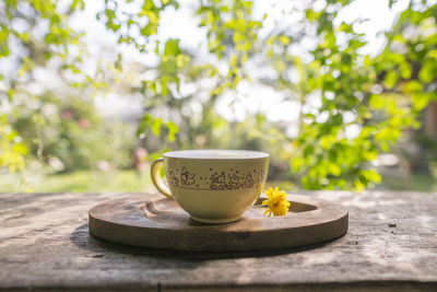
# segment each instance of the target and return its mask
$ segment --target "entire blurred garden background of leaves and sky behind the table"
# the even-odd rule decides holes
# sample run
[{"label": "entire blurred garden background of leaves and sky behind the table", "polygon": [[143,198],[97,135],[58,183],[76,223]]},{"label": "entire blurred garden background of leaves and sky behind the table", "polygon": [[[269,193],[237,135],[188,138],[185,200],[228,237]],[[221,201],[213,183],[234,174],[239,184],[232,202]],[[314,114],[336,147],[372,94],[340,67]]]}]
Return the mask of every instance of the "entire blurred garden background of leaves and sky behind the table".
[{"label": "entire blurred garden background of leaves and sky behind the table", "polygon": [[0,191],[149,191],[180,149],[287,190],[437,189],[436,1],[0,3]]}]

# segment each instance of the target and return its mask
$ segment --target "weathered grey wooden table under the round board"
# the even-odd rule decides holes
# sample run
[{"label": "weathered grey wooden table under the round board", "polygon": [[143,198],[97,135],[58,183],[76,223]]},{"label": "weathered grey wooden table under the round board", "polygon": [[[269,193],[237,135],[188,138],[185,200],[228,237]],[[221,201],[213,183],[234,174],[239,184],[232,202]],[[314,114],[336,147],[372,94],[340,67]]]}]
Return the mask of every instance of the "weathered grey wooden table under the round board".
[{"label": "weathered grey wooden table under the round board", "polygon": [[0,290],[437,291],[437,194],[308,195],[350,210],[345,236],[305,248],[181,253],[88,235],[92,206],[132,194],[2,194]]}]

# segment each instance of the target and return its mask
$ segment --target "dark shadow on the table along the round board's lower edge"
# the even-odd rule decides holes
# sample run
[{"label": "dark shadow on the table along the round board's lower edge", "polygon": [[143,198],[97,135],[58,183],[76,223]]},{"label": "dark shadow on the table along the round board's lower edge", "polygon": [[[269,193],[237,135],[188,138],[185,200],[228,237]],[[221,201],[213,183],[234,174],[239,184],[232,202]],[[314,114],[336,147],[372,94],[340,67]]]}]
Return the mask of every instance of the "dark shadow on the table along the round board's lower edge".
[{"label": "dark shadow on the table along the round board's lower edge", "polygon": [[147,256],[154,258],[172,258],[180,260],[206,260],[206,259],[232,259],[232,258],[261,258],[285,254],[296,254],[314,248],[320,248],[329,245],[332,241],[307,245],[304,247],[282,248],[272,250],[252,250],[252,252],[182,252],[169,249],[156,249],[122,245],[99,240],[92,236],[88,232],[88,224],[82,224],[76,227],[70,235],[71,242],[80,248],[96,253],[92,257],[105,257],[106,253]]}]

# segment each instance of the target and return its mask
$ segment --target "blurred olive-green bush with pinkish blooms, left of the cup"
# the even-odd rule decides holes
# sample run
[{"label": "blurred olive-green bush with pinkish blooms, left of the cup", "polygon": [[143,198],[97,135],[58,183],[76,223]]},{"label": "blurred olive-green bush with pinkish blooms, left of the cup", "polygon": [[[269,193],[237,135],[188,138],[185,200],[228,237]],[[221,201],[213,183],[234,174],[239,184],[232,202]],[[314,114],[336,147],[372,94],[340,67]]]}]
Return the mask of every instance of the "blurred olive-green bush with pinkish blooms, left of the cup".
[{"label": "blurred olive-green bush with pinkish blooms, left of the cup", "polygon": [[47,92],[38,103],[23,104],[12,126],[43,164],[57,172],[131,166],[132,129],[103,120],[92,100]]}]

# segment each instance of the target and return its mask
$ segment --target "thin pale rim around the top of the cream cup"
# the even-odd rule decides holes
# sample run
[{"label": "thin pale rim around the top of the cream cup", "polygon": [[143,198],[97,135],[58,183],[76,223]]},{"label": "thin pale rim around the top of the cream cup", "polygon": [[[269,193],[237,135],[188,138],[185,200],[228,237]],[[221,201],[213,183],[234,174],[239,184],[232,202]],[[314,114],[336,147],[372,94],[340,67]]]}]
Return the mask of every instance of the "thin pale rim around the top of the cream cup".
[{"label": "thin pale rim around the top of the cream cup", "polygon": [[[213,152],[223,152],[223,155],[214,156]],[[211,153],[211,154],[209,154]],[[234,150],[234,149],[198,149],[198,150],[177,150],[169,151],[163,154],[163,157],[186,159],[186,160],[259,160],[268,159],[270,154],[261,151],[252,150]]]}]

